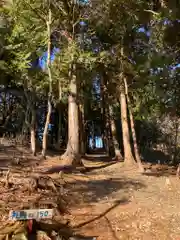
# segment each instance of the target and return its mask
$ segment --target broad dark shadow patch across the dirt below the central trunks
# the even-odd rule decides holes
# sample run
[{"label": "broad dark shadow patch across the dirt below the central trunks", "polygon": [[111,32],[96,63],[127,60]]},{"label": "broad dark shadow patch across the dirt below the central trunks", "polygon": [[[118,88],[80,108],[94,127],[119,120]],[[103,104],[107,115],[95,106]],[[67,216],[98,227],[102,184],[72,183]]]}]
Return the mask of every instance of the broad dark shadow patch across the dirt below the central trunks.
[{"label": "broad dark shadow patch across the dirt below the central trunks", "polygon": [[[77,180],[66,185],[69,204],[95,203],[100,200],[110,200],[113,193],[128,194],[132,190],[145,188],[140,181],[127,178],[108,178],[100,180]],[[72,199],[72,201],[71,201]]]}]

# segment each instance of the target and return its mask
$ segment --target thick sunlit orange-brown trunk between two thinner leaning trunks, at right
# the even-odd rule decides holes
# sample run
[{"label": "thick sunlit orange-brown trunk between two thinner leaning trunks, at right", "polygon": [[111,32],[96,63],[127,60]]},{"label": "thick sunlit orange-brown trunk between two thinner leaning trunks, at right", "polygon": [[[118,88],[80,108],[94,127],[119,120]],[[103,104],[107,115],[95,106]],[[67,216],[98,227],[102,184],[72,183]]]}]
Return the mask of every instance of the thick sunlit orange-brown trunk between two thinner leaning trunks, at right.
[{"label": "thick sunlit orange-brown trunk between two thinner leaning trunks, at right", "polygon": [[134,165],[135,160],[131,150],[130,134],[128,126],[127,104],[124,91],[120,93],[121,102],[121,122],[123,133],[123,145],[124,145],[124,162],[126,165]]}]

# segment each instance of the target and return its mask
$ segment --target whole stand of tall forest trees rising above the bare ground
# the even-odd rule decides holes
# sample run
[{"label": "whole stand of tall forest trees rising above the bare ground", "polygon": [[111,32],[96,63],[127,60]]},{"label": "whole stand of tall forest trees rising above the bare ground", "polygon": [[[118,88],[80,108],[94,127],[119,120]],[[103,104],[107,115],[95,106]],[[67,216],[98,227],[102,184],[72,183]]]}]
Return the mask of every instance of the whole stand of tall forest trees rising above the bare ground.
[{"label": "whole stand of tall forest trees rising above the bare ground", "polygon": [[2,2],[1,135],[21,137],[43,157],[50,147],[66,149],[61,159],[70,164],[95,150],[97,136],[110,156],[141,170],[143,157],[177,164],[179,7],[165,0]]}]

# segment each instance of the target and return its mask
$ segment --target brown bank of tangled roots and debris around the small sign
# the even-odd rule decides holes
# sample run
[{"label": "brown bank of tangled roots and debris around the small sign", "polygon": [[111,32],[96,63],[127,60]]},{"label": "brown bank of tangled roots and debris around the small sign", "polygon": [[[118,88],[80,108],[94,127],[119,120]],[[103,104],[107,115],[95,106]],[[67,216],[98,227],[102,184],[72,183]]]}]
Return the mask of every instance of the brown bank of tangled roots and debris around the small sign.
[{"label": "brown bank of tangled roots and debris around the small sign", "polygon": [[[7,174],[5,175],[5,178],[4,176],[0,178],[0,182],[3,182],[4,188],[8,188],[8,190],[11,190],[9,189],[10,185],[16,185],[19,187],[18,193],[22,193],[24,196],[22,198],[22,202],[20,203],[18,201],[18,196],[14,194],[13,206],[11,205],[11,199],[8,200],[9,198],[7,198],[7,200],[4,200],[4,205],[6,205],[6,211],[4,212],[4,215],[7,215],[7,211],[11,209],[21,210],[29,208],[53,208],[55,210],[54,217],[58,216],[59,219],[59,216],[66,212],[67,202],[63,195],[58,191],[59,185],[48,176],[24,177],[20,174],[12,174],[8,172],[8,184],[10,185],[6,185]],[[24,192],[21,192],[23,187],[27,188],[27,190],[30,190],[33,194],[27,196],[24,195]],[[43,189],[46,191],[42,191]],[[39,191],[37,192],[37,190]],[[5,191],[3,194],[7,194],[7,197],[12,195],[11,191]],[[28,196],[30,201],[27,199]],[[26,200],[24,199],[25,197]],[[69,237],[72,236],[72,232],[66,223],[53,223],[53,219],[48,220],[48,223],[36,222],[33,220],[32,231],[29,232],[28,221],[12,221],[8,220],[8,216],[3,217],[5,218],[2,220],[3,227],[0,227],[0,240],[55,240],[69,239]],[[30,238],[32,234],[34,234],[34,238]]]}]

